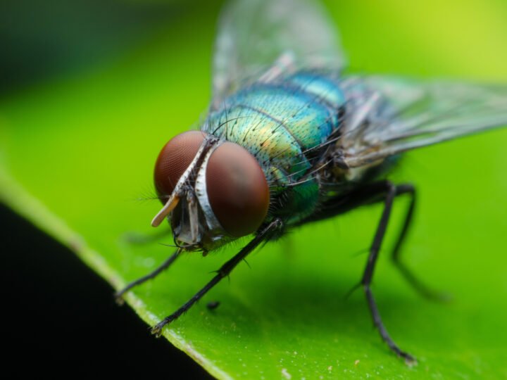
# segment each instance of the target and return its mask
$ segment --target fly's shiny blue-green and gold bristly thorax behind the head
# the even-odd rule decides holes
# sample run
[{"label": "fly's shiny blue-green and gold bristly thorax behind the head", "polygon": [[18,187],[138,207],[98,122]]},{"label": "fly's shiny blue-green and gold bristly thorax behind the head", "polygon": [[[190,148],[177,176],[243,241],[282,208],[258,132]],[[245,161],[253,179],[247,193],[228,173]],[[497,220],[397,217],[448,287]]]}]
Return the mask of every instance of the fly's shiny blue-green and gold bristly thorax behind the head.
[{"label": "fly's shiny blue-green and gold bristly thorax behind the head", "polygon": [[312,172],[321,144],[338,134],[344,104],[337,78],[297,72],[237,91],[208,115],[202,129],[256,157],[270,185],[270,214],[293,224],[318,203]]}]

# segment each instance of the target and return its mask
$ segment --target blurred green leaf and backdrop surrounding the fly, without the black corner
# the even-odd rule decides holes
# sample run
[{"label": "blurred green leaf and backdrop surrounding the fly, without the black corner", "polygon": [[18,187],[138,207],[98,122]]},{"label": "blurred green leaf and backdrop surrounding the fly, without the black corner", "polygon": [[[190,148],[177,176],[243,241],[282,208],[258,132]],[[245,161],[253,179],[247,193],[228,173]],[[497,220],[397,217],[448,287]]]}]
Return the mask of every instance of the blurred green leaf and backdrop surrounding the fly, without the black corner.
[{"label": "blurred green leaf and backdrop surrounding the fly, without the black corner", "polygon": [[[325,4],[351,72],[507,82],[505,1]],[[1,200],[117,288],[170,254],[122,236],[152,232],[158,201],[138,200],[154,196],[154,160],[206,109],[220,6],[0,6]],[[417,367],[396,360],[380,341],[361,292],[343,299],[361,277],[366,255],[356,253],[373,238],[377,206],[297,229],[254,253],[251,269],[240,265],[166,336],[220,378],[506,378],[506,146],[502,129],[451,141],[408,153],[393,175],[420,191],[406,262],[453,295],[452,303],[430,303],[390,265],[406,205],[400,199],[374,291],[387,328],[418,357]],[[171,243],[170,236],[161,241]],[[188,255],[128,301],[153,324],[237,248],[206,259]],[[220,308],[209,312],[206,302],[215,299]]]}]

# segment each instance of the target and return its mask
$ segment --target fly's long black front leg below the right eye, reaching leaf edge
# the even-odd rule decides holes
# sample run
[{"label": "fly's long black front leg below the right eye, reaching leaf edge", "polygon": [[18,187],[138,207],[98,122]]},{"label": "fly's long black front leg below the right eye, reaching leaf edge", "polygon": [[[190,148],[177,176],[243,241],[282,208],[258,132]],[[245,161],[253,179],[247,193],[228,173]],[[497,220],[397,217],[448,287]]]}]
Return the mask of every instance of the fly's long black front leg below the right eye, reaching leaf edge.
[{"label": "fly's long black front leg below the right eye, reaching leaf edge", "polygon": [[260,234],[258,234],[246,246],[244,246],[244,248],[242,248],[241,251],[239,251],[236,255],[234,255],[234,257],[231,258],[229,261],[225,262],[225,264],[222,265],[222,267],[220,267],[220,269],[217,271],[215,277],[213,277],[213,279],[211,279],[211,281],[209,281],[208,284],[206,284],[206,286],[204,286],[203,289],[198,291],[192,298],[190,298],[187,301],[187,303],[184,303],[184,305],[182,305],[181,308],[173,312],[173,314],[168,315],[167,317],[162,319],[161,322],[158,322],[158,324],[156,324],[154,327],[151,327],[151,334],[160,336],[162,328],[166,324],[173,322],[175,319],[180,317],[180,315],[189,310],[189,308],[192,308],[192,305],[194,305],[194,303],[196,303],[206,293],[208,293],[208,291],[211,290],[213,286],[218,284],[220,280],[223,279],[224,277],[227,277],[230,274],[230,272],[232,272],[234,267],[236,267],[236,265],[238,265],[239,262],[241,262],[242,260],[244,260],[244,258],[246,258],[246,255],[251,253],[251,251],[253,251],[253,249],[255,249],[260,243],[268,240],[271,236],[273,236],[273,234],[277,230],[282,229],[282,227],[283,223],[279,219],[273,220],[273,222],[268,224],[268,227],[265,227],[265,229],[263,229]]}]

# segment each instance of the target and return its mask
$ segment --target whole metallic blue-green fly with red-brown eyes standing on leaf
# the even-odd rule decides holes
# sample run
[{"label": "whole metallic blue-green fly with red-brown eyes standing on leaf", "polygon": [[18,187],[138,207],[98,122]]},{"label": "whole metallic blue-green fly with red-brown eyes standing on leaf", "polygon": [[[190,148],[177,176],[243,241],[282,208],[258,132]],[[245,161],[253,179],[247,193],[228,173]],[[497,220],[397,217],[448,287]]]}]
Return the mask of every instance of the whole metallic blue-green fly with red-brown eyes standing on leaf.
[{"label": "whole metallic blue-green fly with red-brown eyes standing on leaf", "polygon": [[386,178],[399,155],[507,124],[507,87],[406,77],[344,75],[344,53],[327,15],[303,0],[238,0],[220,18],[213,99],[200,131],[173,137],[155,166],[177,249],[142,284],[183,252],[204,255],[242,236],[251,241],[173,314],[180,317],[261,243],[289,229],[371,203],[384,210],[371,243],[363,288],[389,348],[414,357],[389,336],[370,284],[394,200],[411,198],[392,258],[421,293],[433,296],[400,261],[415,188]]}]

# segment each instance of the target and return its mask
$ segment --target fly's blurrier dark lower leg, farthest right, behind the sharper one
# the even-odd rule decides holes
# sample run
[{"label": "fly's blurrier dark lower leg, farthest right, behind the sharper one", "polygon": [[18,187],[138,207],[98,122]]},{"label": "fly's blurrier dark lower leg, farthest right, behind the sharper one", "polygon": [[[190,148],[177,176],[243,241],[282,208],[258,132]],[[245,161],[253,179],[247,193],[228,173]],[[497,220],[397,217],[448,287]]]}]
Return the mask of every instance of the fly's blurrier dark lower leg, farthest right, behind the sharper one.
[{"label": "fly's blurrier dark lower leg, farthest right, behind the sharper one", "polygon": [[412,222],[413,210],[415,208],[415,187],[411,184],[404,184],[403,189],[406,190],[406,194],[411,197],[410,204],[408,205],[408,209],[405,215],[405,220],[403,222],[403,226],[401,227],[401,231],[398,236],[398,240],[396,241],[396,245],[394,246],[394,250],[392,251],[392,261],[396,268],[401,272],[403,277],[405,277],[408,284],[411,284],[415,291],[418,291],[422,296],[428,298],[430,300],[439,300],[444,301],[448,300],[449,296],[446,296],[443,293],[439,293],[428,288],[418,277],[416,277],[411,270],[406,267],[403,262],[401,262],[400,248],[403,245],[403,241],[405,241],[408,229]]}]

